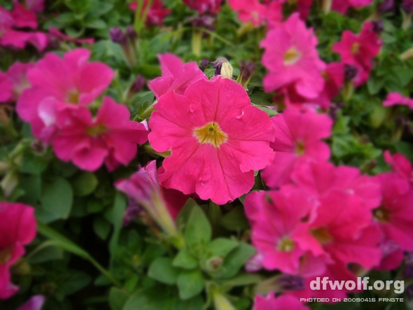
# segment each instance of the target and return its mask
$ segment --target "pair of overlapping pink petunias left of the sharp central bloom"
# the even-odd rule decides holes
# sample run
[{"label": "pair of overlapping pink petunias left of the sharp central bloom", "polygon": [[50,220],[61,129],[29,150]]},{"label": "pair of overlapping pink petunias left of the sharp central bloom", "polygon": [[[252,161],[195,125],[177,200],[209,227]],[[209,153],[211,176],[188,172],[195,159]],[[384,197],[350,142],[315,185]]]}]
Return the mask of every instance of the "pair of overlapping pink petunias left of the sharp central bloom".
[{"label": "pair of overlapping pink petunias left of the sharp central bloom", "polygon": [[131,121],[128,109],[109,97],[92,115],[90,108],[111,83],[113,71],[89,62],[89,57],[90,51],[82,48],[63,58],[45,55],[27,71],[30,86],[18,98],[17,111],[37,139],[52,144],[60,160],[88,171],[103,163],[113,170],[129,164],[137,143],[146,142],[148,130],[145,123]]}]

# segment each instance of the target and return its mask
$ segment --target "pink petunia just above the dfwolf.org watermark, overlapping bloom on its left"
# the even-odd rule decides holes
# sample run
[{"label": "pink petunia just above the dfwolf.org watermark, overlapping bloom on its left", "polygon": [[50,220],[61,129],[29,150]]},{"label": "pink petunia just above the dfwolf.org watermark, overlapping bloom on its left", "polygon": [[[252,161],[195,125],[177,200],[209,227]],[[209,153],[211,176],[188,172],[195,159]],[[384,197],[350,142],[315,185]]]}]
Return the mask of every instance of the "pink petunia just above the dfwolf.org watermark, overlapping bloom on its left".
[{"label": "pink petunia just above the dfwolf.org watermark, overlapping bloom on its left", "polygon": [[366,269],[378,265],[381,232],[360,199],[332,190],[318,201],[315,216],[296,227],[295,240],[302,250],[323,258],[325,264],[353,262]]}]

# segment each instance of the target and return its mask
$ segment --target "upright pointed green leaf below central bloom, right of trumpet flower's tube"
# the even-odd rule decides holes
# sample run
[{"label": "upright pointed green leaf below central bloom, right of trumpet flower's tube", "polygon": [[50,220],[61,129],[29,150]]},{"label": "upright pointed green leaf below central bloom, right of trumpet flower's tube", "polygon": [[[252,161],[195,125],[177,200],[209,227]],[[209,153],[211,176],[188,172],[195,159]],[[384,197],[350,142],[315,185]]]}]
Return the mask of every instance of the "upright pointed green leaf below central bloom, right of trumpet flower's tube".
[{"label": "upright pointed green leaf below central bloom, right of trumpet flower's tube", "polygon": [[185,228],[185,241],[187,246],[207,244],[211,240],[211,225],[200,206],[194,206],[190,213],[188,224]]}]

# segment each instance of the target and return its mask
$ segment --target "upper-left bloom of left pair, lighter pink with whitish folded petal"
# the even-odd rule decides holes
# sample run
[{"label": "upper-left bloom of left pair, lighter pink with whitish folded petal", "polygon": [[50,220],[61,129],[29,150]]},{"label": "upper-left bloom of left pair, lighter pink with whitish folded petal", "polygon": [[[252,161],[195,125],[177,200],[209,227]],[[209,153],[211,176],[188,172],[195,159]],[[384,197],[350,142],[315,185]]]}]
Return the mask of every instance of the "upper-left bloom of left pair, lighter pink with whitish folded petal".
[{"label": "upper-left bloom of left pair, lighter pink with whitish folded petal", "polygon": [[22,92],[17,111],[22,120],[30,122],[36,138],[48,143],[55,132],[57,111],[91,104],[111,83],[112,69],[88,62],[89,57],[90,51],[83,48],[63,58],[50,52],[27,72],[31,87]]}]

